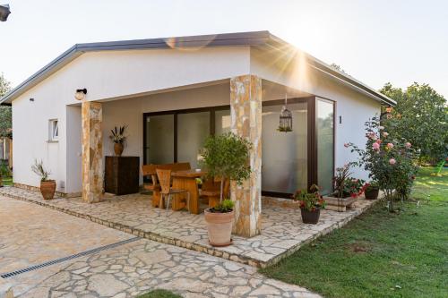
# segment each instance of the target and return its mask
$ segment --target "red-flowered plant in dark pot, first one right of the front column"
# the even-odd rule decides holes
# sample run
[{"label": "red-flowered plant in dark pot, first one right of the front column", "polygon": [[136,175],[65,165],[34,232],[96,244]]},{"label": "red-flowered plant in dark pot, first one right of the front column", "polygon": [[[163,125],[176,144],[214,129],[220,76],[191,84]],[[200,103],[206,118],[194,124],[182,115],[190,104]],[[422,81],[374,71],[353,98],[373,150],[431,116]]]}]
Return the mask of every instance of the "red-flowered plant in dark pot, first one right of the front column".
[{"label": "red-flowered plant in dark pot, first one right of the front column", "polygon": [[321,216],[321,209],[325,209],[326,202],[319,193],[317,185],[311,185],[308,190],[298,190],[294,194],[294,200],[300,201],[300,212],[302,214],[302,221],[304,224],[315,225],[319,222]]}]

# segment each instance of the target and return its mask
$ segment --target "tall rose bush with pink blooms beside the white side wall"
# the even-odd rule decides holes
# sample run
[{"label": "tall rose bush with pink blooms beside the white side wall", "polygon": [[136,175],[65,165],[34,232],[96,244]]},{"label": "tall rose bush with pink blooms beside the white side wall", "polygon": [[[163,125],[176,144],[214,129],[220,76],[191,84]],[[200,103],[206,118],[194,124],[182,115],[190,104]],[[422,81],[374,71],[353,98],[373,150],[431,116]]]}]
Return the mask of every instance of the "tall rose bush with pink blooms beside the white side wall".
[{"label": "tall rose bush with pink blooms beside the white side wall", "polygon": [[394,198],[407,199],[409,196],[418,171],[415,163],[418,157],[409,141],[395,140],[391,134],[383,131],[384,127],[380,123],[390,121],[389,115],[386,113],[381,119],[374,117],[365,123],[365,149],[353,143],[349,143],[349,148],[359,156],[354,164],[363,166],[368,171],[369,178],[378,183],[386,199],[389,200],[392,211]]}]

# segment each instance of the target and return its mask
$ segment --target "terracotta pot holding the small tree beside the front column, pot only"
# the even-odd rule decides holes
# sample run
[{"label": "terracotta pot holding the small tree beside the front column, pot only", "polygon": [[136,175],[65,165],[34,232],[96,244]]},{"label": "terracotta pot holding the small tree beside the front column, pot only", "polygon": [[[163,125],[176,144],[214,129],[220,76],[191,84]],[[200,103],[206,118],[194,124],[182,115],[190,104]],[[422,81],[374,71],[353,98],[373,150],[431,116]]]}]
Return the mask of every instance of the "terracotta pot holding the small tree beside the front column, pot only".
[{"label": "terracotta pot holding the small tree beside the front column, pot only", "polygon": [[232,224],[235,212],[211,212],[205,209],[205,221],[209,230],[209,243],[211,246],[228,246],[232,243]]}]

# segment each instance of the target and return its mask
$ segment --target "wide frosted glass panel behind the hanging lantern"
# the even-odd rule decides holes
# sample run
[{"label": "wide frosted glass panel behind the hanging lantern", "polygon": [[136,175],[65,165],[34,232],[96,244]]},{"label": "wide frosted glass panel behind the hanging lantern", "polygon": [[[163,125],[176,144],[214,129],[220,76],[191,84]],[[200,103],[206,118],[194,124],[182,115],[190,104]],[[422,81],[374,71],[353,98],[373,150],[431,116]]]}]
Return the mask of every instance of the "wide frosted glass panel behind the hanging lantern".
[{"label": "wide frosted glass panel behind the hanging lantern", "polygon": [[263,106],[262,189],[293,193],[307,184],[306,103],[288,105],[292,132],[278,132],[281,106]]}]

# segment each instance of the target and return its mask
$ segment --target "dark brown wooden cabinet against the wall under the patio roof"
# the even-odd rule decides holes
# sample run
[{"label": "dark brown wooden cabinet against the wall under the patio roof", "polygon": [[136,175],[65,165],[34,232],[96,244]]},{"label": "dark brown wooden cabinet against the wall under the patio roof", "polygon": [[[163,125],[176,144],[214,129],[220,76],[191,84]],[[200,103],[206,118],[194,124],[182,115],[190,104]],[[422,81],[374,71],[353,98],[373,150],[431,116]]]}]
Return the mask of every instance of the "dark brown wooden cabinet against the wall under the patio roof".
[{"label": "dark brown wooden cabinet against the wall under the patio roof", "polygon": [[139,157],[106,157],[105,192],[117,195],[139,192]]}]

